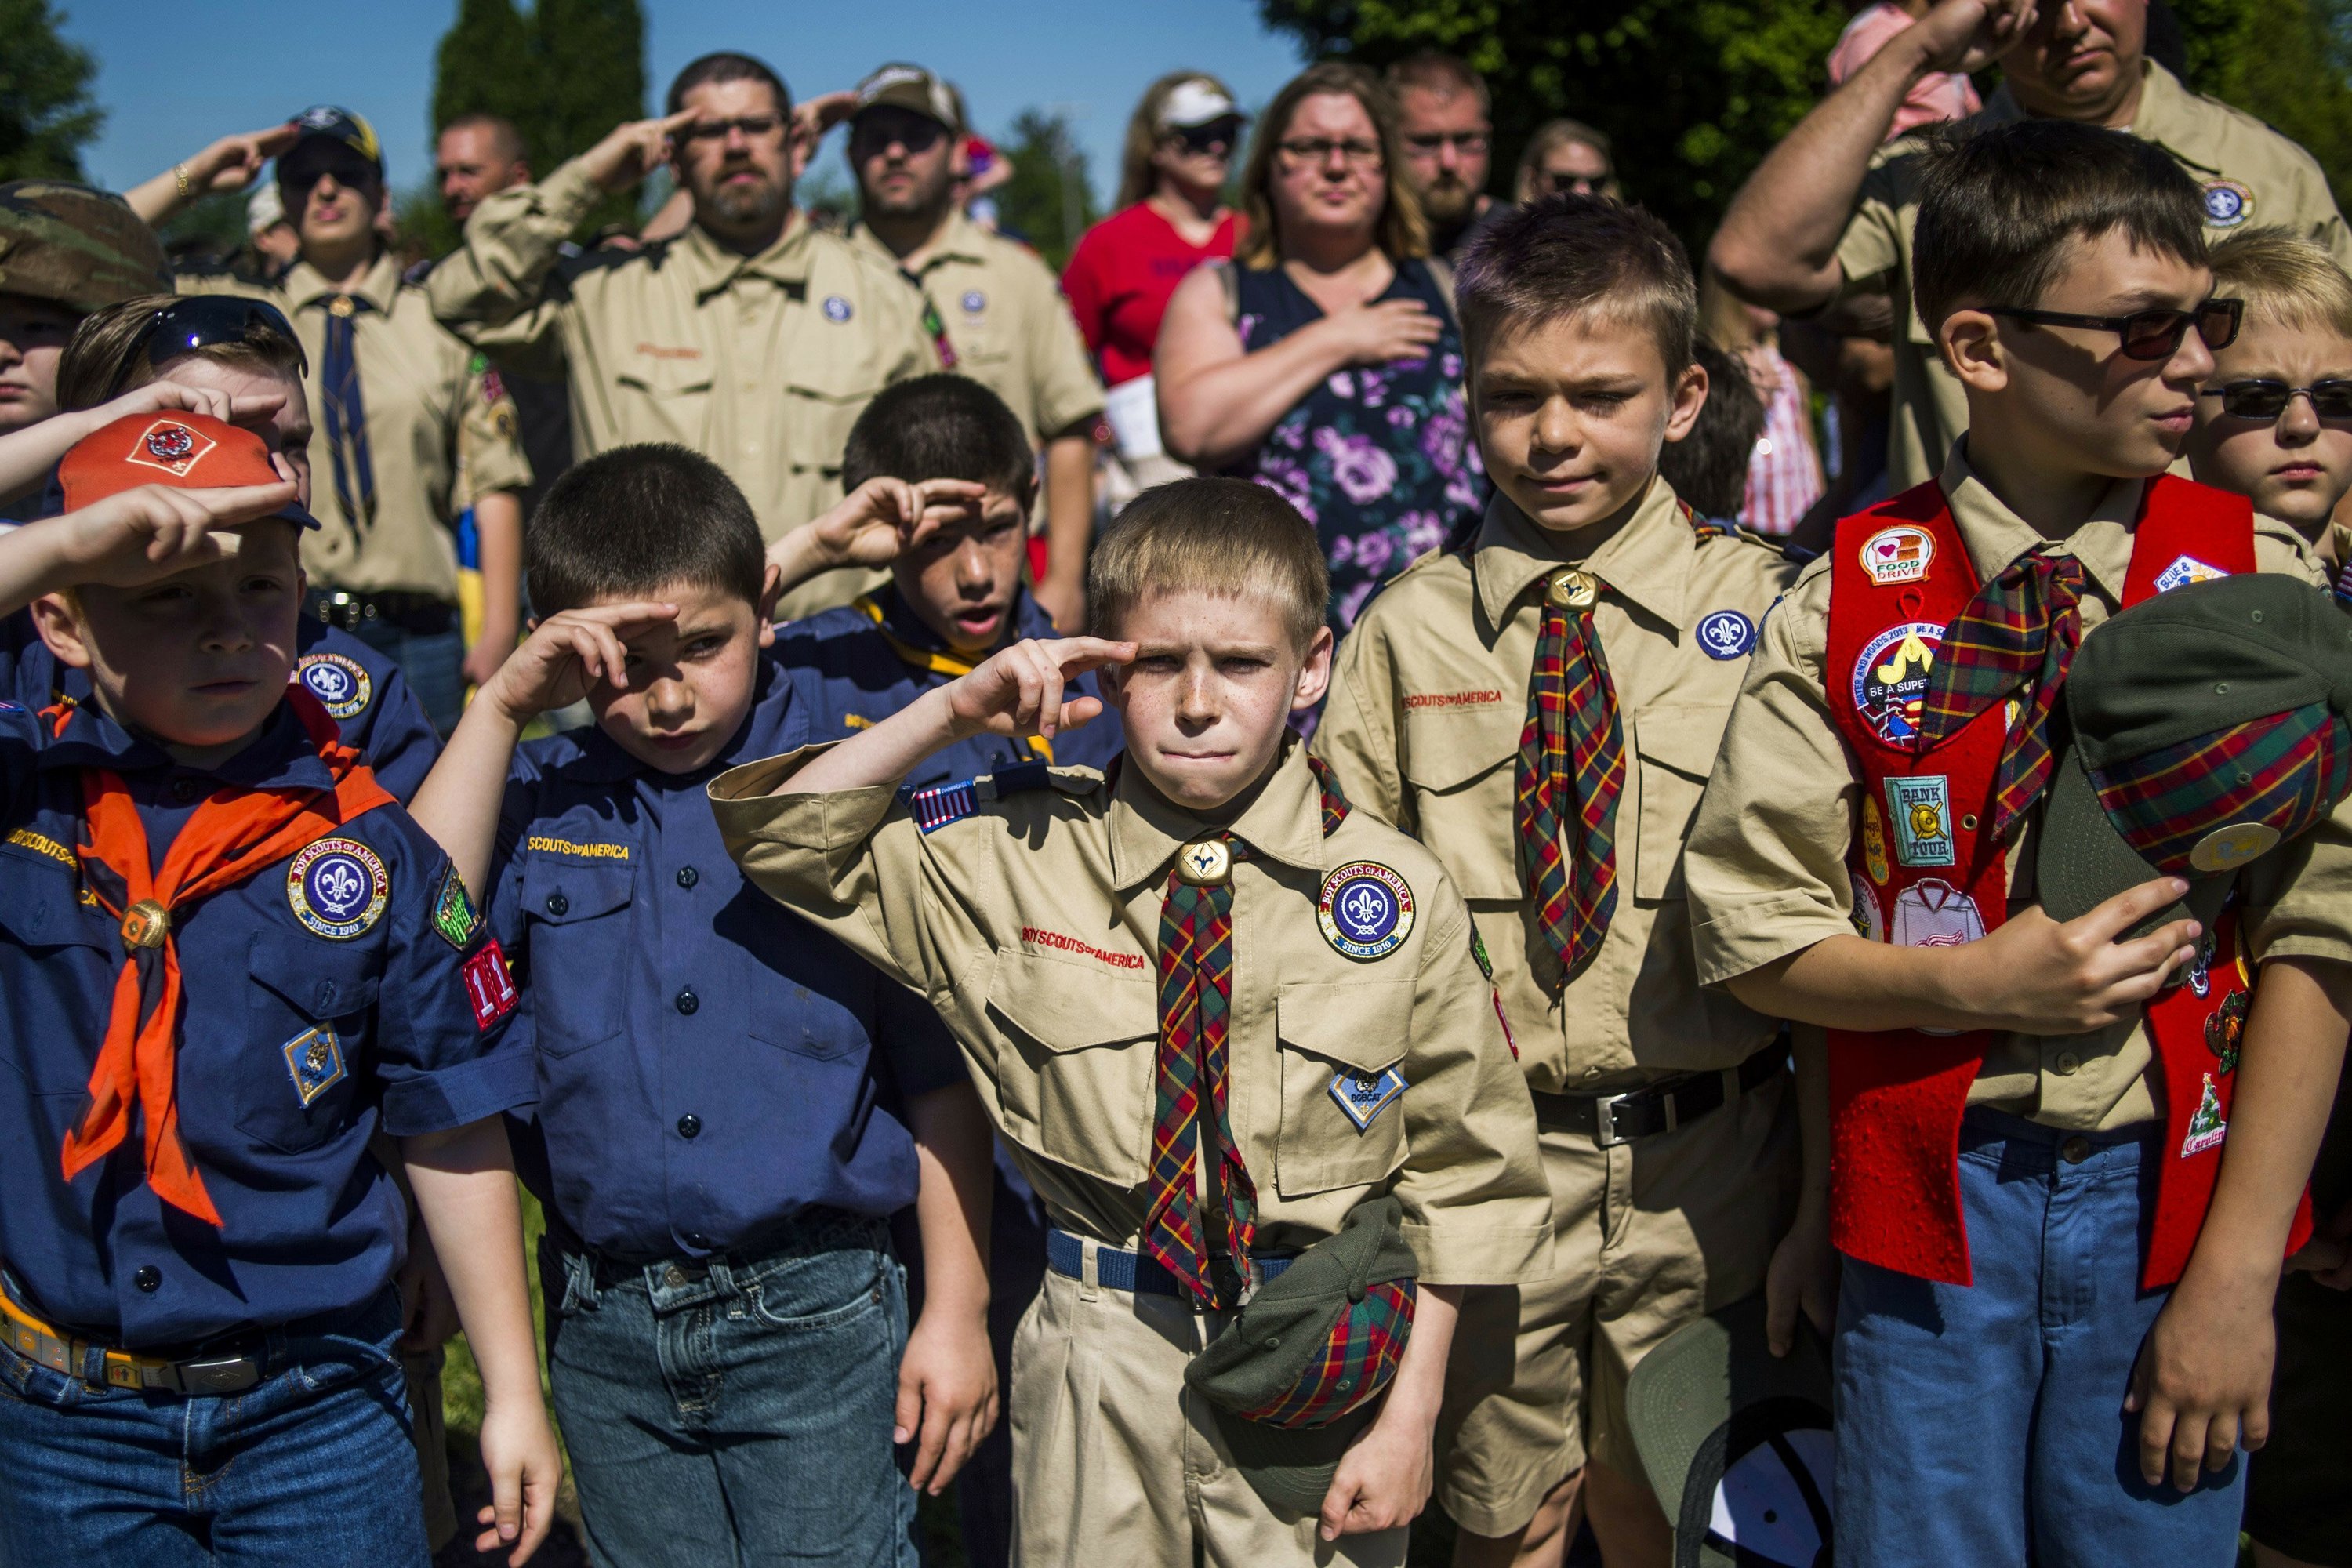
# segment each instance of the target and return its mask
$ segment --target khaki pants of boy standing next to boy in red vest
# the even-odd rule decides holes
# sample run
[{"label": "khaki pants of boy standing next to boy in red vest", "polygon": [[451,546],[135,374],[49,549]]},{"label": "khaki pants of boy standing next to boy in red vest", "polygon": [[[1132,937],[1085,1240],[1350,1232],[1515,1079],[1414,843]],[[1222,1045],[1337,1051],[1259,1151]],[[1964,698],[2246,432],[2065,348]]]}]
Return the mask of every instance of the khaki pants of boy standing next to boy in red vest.
[{"label": "khaki pants of boy standing next to boy in red vest", "polygon": [[1588,1455],[1642,1479],[1625,1429],[1628,1373],[1691,1319],[1762,1291],[1797,1211],[1788,1074],[1639,1143],[1538,1143],[1555,1272],[1470,1291],[1437,1420],[1437,1497],[1477,1535],[1526,1528]]}]

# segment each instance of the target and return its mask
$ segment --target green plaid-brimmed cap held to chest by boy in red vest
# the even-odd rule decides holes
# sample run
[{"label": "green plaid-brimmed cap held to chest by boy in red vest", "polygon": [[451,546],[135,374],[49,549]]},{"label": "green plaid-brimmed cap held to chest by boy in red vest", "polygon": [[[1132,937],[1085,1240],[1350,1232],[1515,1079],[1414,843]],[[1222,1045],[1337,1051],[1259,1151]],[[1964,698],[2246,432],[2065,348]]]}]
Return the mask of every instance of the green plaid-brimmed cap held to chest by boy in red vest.
[{"label": "green plaid-brimmed cap held to chest by boy in red vest", "polygon": [[2279,574],[2190,583],[2084,637],[2037,882],[2074,919],[2150,877],[2211,929],[2232,872],[2352,790],[2352,616]]}]

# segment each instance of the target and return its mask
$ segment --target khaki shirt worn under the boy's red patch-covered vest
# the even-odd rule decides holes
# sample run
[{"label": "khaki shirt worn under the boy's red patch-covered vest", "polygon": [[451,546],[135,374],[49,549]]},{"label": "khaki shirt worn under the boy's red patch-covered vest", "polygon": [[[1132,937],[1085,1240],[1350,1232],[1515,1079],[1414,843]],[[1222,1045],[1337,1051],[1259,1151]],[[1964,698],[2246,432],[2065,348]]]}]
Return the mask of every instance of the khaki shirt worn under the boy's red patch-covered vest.
[{"label": "khaki shirt worn under the boy's red patch-covered vest", "polygon": [[[1952,522],[1978,581],[2004,571],[2046,541],[1985,489],[1966,442],[1943,468]],[[2060,550],[2082,562],[2082,628],[2091,637],[2124,597],[2131,517],[2140,480],[2119,480]],[[2253,520],[2253,559],[2307,583],[2321,578],[2310,548],[2284,522]],[[1764,623],[1748,686],[1731,710],[1722,757],[1691,825],[1684,875],[1691,886],[1698,978],[1705,985],[1762,969],[1830,936],[1853,936],[1846,844],[1860,785],[1830,722],[1828,621],[1830,557],[1811,562]],[[1844,686],[1844,672],[1837,679]],[[2009,846],[2009,910],[2034,903],[2034,809]],[[2352,806],[2291,849],[2258,860],[2239,882],[2241,919],[2258,959],[2352,961]],[[1994,1105],[2046,1126],[2091,1131],[2150,1121],[2152,1051],[2133,1020],[2096,1034],[1999,1034],[1985,1053],[1971,1105]]]}]

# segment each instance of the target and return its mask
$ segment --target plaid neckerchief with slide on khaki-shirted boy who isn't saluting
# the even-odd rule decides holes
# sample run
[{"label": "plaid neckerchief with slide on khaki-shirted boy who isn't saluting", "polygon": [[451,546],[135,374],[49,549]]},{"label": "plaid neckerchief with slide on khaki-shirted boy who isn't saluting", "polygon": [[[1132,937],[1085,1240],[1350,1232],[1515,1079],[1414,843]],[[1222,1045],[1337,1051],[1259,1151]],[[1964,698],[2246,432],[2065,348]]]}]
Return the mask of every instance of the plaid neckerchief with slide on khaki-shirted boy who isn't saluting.
[{"label": "plaid neckerchief with slide on khaki-shirted boy who isn't saluting", "polygon": [[1555,571],[1543,592],[1536,670],[1519,729],[1515,830],[1526,896],[1559,957],[1559,987],[1585,971],[1616,914],[1616,802],[1625,729],[1592,607],[1599,578]]}]

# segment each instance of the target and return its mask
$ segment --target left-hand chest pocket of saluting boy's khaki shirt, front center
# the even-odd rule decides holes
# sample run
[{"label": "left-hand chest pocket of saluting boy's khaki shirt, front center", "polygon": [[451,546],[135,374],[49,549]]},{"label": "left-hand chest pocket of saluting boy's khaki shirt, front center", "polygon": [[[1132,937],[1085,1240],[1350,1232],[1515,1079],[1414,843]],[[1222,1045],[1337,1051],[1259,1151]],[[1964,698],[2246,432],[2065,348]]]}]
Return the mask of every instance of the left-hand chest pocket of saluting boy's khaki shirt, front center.
[{"label": "left-hand chest pocket of saluting boy's khaki shirt, front center", "polygon": [[1160,990],[1035,952],[1000,952],[988,1009],[1004,1133],[1112,1187],[1143,1180],[1152,1147]]}]

